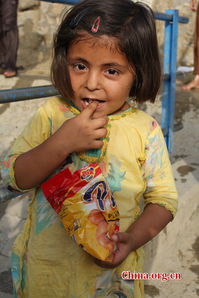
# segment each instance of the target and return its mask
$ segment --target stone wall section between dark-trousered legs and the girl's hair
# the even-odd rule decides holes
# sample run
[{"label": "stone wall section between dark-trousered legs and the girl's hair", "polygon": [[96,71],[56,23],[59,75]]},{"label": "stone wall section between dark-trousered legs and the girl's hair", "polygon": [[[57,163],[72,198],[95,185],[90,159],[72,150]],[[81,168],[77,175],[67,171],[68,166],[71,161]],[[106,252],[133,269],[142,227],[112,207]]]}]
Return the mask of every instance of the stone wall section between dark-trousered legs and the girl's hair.
[{"label": "stone wall section between dark-trousered legs and the girl's hair", "polygon": [[33,67],[49,59],[53,32],[61,12],[69,6],[37,0],[19,0],[17,66]]}]

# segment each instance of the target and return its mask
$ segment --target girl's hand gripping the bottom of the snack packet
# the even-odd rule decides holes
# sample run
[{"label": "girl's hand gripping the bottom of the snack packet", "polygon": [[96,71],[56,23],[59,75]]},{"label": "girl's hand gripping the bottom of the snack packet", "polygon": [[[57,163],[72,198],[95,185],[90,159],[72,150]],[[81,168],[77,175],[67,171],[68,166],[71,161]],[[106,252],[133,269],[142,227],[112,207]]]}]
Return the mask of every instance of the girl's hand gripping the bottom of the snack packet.
[{"label": "girl's hand gripping the bottom of the snack packet", "polygon": [[130,233],[118,233],[112,235],[111,239],[118,242],[118,251],[115,253],[113,262],[101,261],[92,256],[93,261],[101,268],[112,269],[118,267],[126,259],[126,257],[134,250],[134,238]]}]

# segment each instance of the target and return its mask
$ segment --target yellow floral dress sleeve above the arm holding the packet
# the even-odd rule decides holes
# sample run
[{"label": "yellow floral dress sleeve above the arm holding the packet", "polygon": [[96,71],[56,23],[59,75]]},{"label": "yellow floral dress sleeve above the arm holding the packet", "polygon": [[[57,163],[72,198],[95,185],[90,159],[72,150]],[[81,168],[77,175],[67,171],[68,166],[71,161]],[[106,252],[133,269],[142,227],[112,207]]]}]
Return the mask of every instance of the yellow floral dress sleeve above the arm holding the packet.
[{"label": "yellow floral dress sleeve above the arm holding the packet", "polygon": [[153,128],[146,140],[145,160],[141,164],[142,178],[146,182],[145,207],[149,203],[164,206],[171,211],[173,220],[178,208],[178,193],[162,131],[157,124]]}]

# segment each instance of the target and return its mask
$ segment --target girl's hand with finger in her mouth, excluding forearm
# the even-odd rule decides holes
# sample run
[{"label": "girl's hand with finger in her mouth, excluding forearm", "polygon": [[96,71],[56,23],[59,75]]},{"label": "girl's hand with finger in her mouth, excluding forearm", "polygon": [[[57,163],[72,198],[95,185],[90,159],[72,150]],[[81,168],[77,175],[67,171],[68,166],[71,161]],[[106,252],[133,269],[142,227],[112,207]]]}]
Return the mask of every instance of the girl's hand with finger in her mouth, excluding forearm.
[{"label": "girl's hand with finger in her mouth, excluding forearm", "polygon": [[108,116],[92,119],[98,104],[99,101],[93,100],[79,115],[66,120],[54,133],[60,151],[68,155],[72,152],[98,149],[103,146],[103,141],[99,139],[107,135],[107,129],[103,126],[109,119]]}]

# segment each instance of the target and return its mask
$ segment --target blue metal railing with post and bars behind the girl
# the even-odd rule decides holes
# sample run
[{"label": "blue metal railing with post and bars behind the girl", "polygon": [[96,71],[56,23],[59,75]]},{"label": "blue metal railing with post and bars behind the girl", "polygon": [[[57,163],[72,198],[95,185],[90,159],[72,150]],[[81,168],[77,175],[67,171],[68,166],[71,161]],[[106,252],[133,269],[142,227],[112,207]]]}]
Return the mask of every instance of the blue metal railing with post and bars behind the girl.
[{"label": "blue metal railing with post and bars behind the girl", "polygon": [[[74,5],[76,0],[42,0],[52,3]],[[182,123],[174,125],[175,113],[175,88],[176,88],[176,64],[177,64],[177,40],[178,23],[188,23],[189,19],[178,16],[178,10],[167,9],[166,13],[154,12],[157,20],[165,21],[164,34],[164,58],[163,58],[163,96],[162,96],[162,132],[167,144],[170,157],[173,153],[174,131],[183,127]],[[58,91],[52,86],[39,86],[20,89],[0,90],[0,103],[29,100],[40,97],[58,95]],[[5,187],[0,188],[0,204],[21,193],[9,193]]]}]

